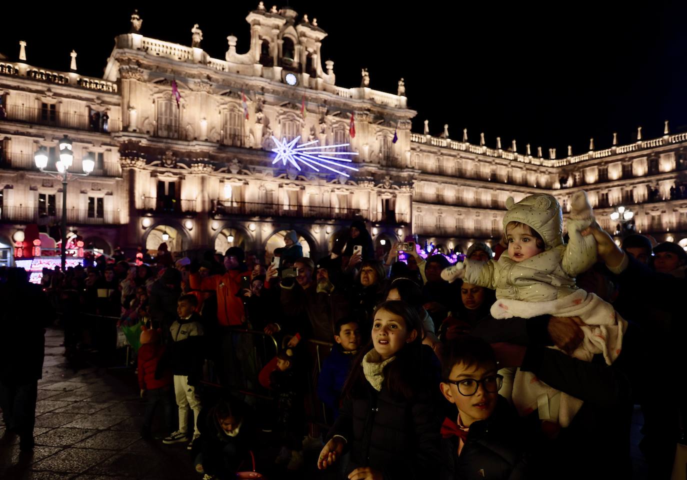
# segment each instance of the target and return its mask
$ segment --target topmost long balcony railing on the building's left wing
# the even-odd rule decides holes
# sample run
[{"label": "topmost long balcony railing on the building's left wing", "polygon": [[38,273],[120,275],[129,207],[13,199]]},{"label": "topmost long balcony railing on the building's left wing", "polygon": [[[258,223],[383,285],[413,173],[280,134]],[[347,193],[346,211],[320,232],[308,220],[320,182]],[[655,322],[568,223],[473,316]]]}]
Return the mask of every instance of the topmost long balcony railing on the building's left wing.
[{"label": "topmost long balcony railing on the building's left wing", "polygon": [[103,119],[102,116],[89,116],[83,113],[34,108],[24,105],[8,105],[0,108],[0,121],[24,122],[36,125],[75,128],[91,132],[109,133],[120,131],[121,124],[117,119]]}]

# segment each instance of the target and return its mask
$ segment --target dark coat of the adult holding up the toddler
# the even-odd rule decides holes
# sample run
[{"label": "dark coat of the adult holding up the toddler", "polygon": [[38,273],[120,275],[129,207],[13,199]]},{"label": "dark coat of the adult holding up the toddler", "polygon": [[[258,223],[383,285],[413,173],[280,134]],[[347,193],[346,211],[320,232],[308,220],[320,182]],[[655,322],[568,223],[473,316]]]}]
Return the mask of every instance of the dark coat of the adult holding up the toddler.
[{"label": "dark coat of the adult holding up the toddler", "polygon": [[[628,326],[622,352],[616,361],[606,365],[601,355],[584,362],[541,346],[551,343],[546,332],[547,323],[548,316],[496,320],[488,317],[471,330],[471,334],[492,343],[506,341],[528,345],[520,368],[584,402],[570,426],[561,429],[554,441],[543,445],[532,464],[542,472],[552,469],[550,471],[555,471],[561,479],[588,477],[589,465],[595,466],[596,478],[631,477],[633,402],[630,375],[640,369],[638,349],[644,345],[642,339],[636,338],[635,325]],[[528,420],[531,418],[536,421],[537,411]],[[580,461],[581,458],[585,461]],[[561,465],[565,466],[564,470]]]}]

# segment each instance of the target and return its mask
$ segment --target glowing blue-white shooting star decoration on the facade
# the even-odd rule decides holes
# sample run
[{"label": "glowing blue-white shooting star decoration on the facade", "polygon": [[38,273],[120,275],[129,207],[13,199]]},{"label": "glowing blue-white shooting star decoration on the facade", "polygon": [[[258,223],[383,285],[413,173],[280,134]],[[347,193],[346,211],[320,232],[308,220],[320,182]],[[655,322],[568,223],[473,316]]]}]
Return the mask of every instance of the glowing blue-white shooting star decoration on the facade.
[{"label": "glowing blue-white shooting star decoration on the facade", "polygon": [[[350,175],[342,169],[358,171],[357,168],[341,163],[351,162],[352,160],[345,156],[358,155],[358,152],[336,152],[333,150],[337,147],[346,147],[349,144],[309,147],[308,145],[318,144],[319,140],[308,141],[306,144],[300,145],[296,145],[300,137],[295,137],[291,141],[286,141],[286,138],[280,141],[277,137],[272,137],[272,140],[276,146],[272,151],[277,154],[272,161],[272,165],[278,161],[281,161],[282,165],[286,165],[288,162],[298,170],[301,170],[300,165],[302,164],[312,168],[315,172],[319,172],[320,168],[326,168],[343,176]],[[329,155],[339,155],[339,157],[330,157]]]}]

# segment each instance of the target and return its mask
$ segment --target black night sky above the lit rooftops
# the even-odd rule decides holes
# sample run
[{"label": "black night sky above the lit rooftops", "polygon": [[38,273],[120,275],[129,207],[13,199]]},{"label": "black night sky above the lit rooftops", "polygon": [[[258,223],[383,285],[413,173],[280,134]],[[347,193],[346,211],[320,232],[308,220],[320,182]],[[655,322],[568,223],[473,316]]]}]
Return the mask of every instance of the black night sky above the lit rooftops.
[{"label": "black night sky above the lit rooftops", "polygon": [[[339,86],[359,87],[362,67],[373,89],[395,93],[405,78],[409,108],[418,111],[415,132],[429,119],[433,135],[449,124],[453,139],[468,128],[475,144],[484,131],[489,146],[500,136],[508,148],[515,138],[520,152],[530,143],[533,153],[541,145],[545,154],[556,148],[560,158],[568,144],[574,155],[586,152],[590,137],[597,150],[608,148],[614,131],[620,144],[634,141],[638,126],[645,139],[659,137],[665,119],[671,133],[687,131],[684,1],[651,2],[650,8],[627,2],[289,3],[328,33],[322,60],[334,60]],[[247,51],[245,16],[258,0],[197,4],[203,7],[192,13],[192,2],[45,3],[36,4],[37,15],[3,5],[0,52],[16,60],[25,40],[30,65],[67,71],[74,48],[78,71],[102,76],[113,38],[128,32],[134,8],[145,36],[190,45],[190,29],[199,23],[211,56],[224,58],[229,34],[238,37],[239,53]]]}]

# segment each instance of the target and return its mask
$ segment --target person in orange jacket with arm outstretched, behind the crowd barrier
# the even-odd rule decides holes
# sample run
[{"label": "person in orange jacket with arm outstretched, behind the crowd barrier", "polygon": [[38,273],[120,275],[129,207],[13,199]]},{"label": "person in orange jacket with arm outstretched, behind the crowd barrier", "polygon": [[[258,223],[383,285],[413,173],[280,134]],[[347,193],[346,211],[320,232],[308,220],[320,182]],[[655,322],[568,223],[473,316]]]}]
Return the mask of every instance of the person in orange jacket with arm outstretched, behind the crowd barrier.
[{"label": "person in orange jacket with arm outstretched, behind the crowd barrier", "polygon": [[241,288],[241,277],[250,278],[243,262],[244,253],[239,247],[227,250],[224,257],[224,266],[227,273],[224,275],[210,275],[201,278],[200,273],[192,273],[189,276],[190,286],[193,290],[216,290],[217,292],[217,323],[223,326],[238,326],[245,322],[245,310],[243,297],[237,296]]}]

